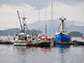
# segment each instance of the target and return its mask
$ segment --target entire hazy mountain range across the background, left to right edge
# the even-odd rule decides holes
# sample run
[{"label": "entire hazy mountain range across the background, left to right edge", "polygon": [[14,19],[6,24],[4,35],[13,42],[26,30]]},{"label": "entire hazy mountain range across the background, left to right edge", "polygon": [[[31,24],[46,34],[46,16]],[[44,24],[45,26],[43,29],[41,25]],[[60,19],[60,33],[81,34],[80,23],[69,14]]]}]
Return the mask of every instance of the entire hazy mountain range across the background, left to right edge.
[{"label": "entire hazy mountain range across the background, left to right edge", "polygon": [[[55,19],[53,20],[53,35],[56,33],[57,28],[60,25],[59,19]],[[40,28],[40,32],[42,31],[43,34],[45,34],[45,24],[47,23],[47,36],[51,35],[51,20],[45,21],[45,20],[40,20],[40,21],[36,21],[34,23],[30,23],[28,24],[28,29],[30,30],[29,34],[32,33],[33,29],[36,30],[35,33],[37,33],[38,27]],[[72,32],[72,31],[77,31],[80,32],[84,35],[84,26],[78,26],[78,25],[74,25],[76,22],[75,21],[65,21],[66,27],[68,32]],[[15,33],[19,33],[20,29],[18,28],[12,28],[12,29],[7,29],[7,30],[0,30],[0,35],[14,35]],[[26,32],[27,33],[27,32]]]}]

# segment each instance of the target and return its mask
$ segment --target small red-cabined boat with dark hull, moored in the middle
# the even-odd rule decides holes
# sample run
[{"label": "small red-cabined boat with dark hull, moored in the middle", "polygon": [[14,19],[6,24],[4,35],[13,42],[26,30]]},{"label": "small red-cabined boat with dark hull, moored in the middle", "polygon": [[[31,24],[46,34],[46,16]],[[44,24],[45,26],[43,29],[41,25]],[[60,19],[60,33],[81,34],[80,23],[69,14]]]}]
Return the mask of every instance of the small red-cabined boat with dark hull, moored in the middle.
[{"label": "small red-cabined boat with dark hull, moored in the middle", "polygon": [[39,46],[41,46],[41,47],[49,47],[51,45],[53,45],[51,37],[45,36],[45,37],[40,38]]}]

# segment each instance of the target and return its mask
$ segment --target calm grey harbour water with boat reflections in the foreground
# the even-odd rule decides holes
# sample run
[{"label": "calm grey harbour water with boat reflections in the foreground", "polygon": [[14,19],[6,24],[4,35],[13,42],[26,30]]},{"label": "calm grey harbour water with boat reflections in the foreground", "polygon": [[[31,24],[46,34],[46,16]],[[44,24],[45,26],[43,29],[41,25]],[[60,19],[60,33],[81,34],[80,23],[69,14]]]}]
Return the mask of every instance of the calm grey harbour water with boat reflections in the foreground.
[{"label": "calm grey harbour water with boat reflections in the foreground", "polygon": [[0,44],[0,63],[84,63],[84,46],[41,48]]}]

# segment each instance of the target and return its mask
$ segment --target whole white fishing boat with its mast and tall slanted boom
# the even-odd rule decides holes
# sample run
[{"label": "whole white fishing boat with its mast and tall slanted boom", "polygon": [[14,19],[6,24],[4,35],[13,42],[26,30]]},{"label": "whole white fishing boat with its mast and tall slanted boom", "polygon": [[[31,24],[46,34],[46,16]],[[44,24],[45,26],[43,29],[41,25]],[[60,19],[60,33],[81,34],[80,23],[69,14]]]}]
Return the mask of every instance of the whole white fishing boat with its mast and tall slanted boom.
[{"label": "whole white fishing boat with its mast and tall slanted boom", "polygon": [[25,29],[27,27],[25,19],[26,17],[23,16],[23,23],[21,23],[20,20],[20,15],[19,15],[19,11],[17,11],[18,13],[18,17],[19,17],[19,22],[20,22],[20,26],[21,26],[21,31],[19,34],[15,34],[14,35],[14,45],[17,46],[25,46],[28,45],[28,43],[31,41],[31,36],[28,35],[27,33],[25,33]]}]

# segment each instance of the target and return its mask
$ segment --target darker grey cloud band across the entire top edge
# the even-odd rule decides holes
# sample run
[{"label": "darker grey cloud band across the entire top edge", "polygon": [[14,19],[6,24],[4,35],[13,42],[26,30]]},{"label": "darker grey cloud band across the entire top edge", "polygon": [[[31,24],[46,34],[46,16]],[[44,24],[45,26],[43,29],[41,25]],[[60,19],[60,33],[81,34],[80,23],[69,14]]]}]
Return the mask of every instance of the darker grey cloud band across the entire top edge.
[{"label": "darker grey cloud band across the entire top edge", "polygon": [[[29,4],[35,9],[42,9],[47,7],[51,0],[0,0],[0,4],[12,4],[22,6],[24,3]],[[59,2],[67,5],[76,5],[84,2],[84,0],[52,0],[53,2]]]}]

